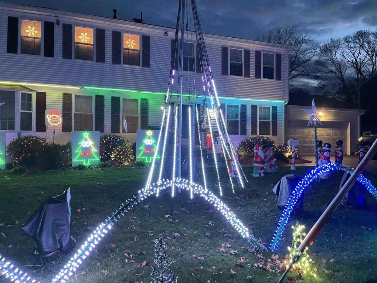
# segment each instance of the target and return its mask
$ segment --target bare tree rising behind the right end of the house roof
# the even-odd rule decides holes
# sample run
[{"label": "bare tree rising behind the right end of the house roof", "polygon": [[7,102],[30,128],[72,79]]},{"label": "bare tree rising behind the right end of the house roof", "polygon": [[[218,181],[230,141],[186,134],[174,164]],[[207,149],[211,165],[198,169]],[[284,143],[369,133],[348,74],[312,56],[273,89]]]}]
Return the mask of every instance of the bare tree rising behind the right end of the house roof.
[{"label": "bare tree rising behind the right end of the house roof", "polygon": [[307,29],[300,29],[295,23],[286,23],[262,33],[256,40],[294,46],[289,58],[290,80],[297,77],[316,77],[311,61],[320,44],[314,42]]}]

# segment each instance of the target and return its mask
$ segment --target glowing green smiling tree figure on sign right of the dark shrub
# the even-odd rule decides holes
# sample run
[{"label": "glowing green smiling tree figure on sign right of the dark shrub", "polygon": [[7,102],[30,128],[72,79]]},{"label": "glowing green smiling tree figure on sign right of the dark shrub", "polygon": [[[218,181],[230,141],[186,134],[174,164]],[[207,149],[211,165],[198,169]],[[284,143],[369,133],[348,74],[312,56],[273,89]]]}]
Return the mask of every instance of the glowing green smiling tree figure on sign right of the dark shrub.
[{"label": "glowing green smiling tree figure on sign right of the dark shrub", "polygon": [[83,135],[83,138],[81,139],[78,148],[75,150],[77,155],[72,160],[72,166],[78,164],[83,164],[86,166],[95,165],[100,161],[100,158],[97,156],[98,149],[95,148],[93,141],[90,139],[90,132],[81,133]]}]

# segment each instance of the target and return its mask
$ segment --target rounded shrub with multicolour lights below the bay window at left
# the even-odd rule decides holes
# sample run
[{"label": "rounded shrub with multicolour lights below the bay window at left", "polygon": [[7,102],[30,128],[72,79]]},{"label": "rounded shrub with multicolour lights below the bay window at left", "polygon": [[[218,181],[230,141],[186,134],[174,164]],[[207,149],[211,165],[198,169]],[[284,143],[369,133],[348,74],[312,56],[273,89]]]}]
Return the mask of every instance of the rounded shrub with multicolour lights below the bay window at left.
[{"label": "rounded shrub with multicolour lights below the bay window at left", "polygon": [[44,138],[27,135],[12,140],[6,151],[17,165],[35,166],[45,144]]}]

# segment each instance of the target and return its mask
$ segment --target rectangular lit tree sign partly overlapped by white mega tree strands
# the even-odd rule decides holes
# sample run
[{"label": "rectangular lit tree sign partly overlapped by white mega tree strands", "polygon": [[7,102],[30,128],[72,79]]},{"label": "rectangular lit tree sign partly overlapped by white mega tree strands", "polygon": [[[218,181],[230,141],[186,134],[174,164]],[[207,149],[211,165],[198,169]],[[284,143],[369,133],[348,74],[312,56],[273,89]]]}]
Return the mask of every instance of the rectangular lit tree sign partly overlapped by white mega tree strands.
[{"label": "rectangular lit tree sign partly overlapped by white mega tree strands", "polygon": [[[156,154],[156,159],[160,158],[159,147],[156,149],[156,139],[158,137],[159,130],[137,130],[136,131],[136,161],[144,161],[150,163]],[[157,151],[157,152],[156,152]]]}]

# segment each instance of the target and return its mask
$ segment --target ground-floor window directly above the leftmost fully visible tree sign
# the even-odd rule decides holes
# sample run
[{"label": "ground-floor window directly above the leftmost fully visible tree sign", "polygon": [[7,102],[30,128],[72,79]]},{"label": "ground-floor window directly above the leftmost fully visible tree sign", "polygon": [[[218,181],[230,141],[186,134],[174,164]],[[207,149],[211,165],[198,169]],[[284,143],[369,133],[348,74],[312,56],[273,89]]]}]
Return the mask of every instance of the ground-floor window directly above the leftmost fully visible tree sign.
[{"label": "ground-floor window directly above the leftmost fully visible tree sign", "polygon": [[75,95],[75,131],[93,131],[93,97]]}]

